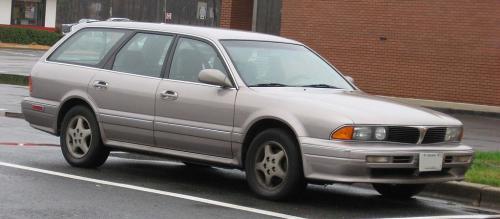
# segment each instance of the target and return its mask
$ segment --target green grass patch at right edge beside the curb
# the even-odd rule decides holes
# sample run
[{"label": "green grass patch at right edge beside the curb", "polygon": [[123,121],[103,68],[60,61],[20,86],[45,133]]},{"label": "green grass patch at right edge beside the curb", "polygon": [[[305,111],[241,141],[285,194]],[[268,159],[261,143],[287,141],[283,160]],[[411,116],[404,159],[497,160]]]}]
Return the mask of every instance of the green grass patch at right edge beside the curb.
[{"label": "green grass patch at right edge beside the curb", "polygon": [[465,181],[500,187],[500,152],[476,152]]}]

